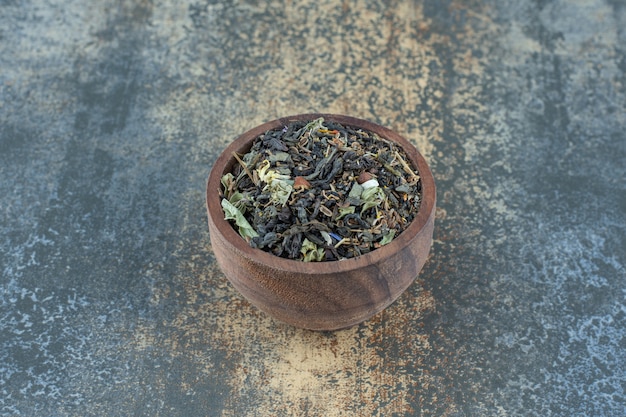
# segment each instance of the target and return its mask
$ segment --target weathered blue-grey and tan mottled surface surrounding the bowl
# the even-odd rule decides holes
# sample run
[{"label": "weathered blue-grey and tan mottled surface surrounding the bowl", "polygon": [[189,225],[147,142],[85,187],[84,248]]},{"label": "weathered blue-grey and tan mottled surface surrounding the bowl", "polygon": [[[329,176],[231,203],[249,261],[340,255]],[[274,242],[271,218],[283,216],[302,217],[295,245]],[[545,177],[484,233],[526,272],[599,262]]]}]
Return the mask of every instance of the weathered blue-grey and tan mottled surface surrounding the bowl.
[{"label": "weathered blue-grey and tan mottled surface surrounding the bowl", "polygon": [[[0,1],[0,414],[626,415],[626,4]],[[204,185],[303,112],[409,138],[416,283],[314,333],[244,301]]]}]

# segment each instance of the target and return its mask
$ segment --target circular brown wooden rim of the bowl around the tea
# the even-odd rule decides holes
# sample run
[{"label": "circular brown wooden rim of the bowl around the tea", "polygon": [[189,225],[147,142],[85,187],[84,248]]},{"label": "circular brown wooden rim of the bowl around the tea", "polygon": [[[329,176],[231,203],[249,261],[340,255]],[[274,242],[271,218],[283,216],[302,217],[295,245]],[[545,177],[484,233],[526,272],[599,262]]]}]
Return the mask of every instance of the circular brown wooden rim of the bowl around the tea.
[{"label": "circular brown wooden rim of the bowl around the tea", "polygon": [[[354,258],[336,261],[303,262],[295,259],[282,258],[262,249],[251,247],[248,242],[235,231],[230,223],[224,219],[221,199],[219,198],[221,177],[226,172],[227,168],[230,169],[235,163],[232,157],[233,152],[247,152],[252,146],[252,142],[268,130],[286,126],[294,121],[311,121],[319,117],[323,117],[324,120],[340,123],[344,126],[361,128],[376,133],[384,139],[399,144],[411,162],[417,165],[418,175],[422,181],[422,201],[420,202],[420,209],[417,215],[413,218],[409,226],[387,245]],[[255,263],[269,266],[275,270],[279,269],[287,272],[319,275],[325,272],[346,272],[370,266],[378,263],[380,260],[388,259],[406,248],[410,242],[417,238],[424,230],[431,218],[432,211],[436,205],[436,195],[435,181],[426,159],[411,142],[400,134],[384,126],[352,116],[332,113],[302,113],[262,123],[239,135],[228,145],[218,156],[209,173],[206,184],[206,207],[209,223],[213,221],[219,233],[222,234],[223,239],[232,245],[232,249],[239,252],[240,255]]]}]

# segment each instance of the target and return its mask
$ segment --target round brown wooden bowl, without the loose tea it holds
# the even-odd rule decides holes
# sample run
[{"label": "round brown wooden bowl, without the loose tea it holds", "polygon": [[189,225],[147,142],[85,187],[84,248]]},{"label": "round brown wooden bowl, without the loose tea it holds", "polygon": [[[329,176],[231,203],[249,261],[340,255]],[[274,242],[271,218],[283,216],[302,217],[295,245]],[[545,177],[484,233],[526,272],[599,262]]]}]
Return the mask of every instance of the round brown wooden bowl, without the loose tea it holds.
[{"label": "round brown wooden bowl, without the loose tea it holds", "polygon": [[[323,117],[378,134],[399,144],[417,167],[422,181],[420,210],[389,244],[357,258],[302,262],[254,249],[224,220],[220,178],[268,130],[296,120]],[[358,324],[400,296],[426,262],[435,222],[435,181],[415,147],[397,133],[366,120],[333,114],[303,114],[264,123],[241,135],[219,156],[207,182],[209,232],[217,262],[233,286],[270,316],[311,330],[337,330]]]}]

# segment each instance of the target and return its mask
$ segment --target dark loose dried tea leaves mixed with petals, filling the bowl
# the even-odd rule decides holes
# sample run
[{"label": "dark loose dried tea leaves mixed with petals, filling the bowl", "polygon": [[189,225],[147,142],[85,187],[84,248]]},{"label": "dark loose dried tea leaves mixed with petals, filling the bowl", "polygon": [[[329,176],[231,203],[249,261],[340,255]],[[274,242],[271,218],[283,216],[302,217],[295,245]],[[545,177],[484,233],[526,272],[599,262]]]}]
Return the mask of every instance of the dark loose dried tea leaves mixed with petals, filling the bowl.
[{"label": "dark loose dried tea leaves mixed with petals, filling the bowl", "polygon": [[222,176],[225,218],[248,243],[334,261],[391,242],[417,214],[421,182],[397,144],[372,132],[293,122],[255,139]]}]

